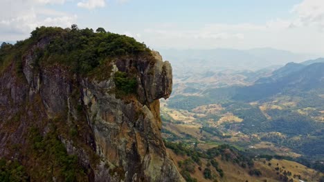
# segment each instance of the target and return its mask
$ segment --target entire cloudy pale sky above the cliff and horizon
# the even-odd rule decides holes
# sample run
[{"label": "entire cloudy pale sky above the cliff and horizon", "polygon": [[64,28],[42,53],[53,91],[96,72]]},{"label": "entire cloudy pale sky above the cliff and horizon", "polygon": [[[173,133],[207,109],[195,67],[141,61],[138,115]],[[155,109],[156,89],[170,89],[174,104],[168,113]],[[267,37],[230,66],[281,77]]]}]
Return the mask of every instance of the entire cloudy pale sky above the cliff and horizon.
[{"label": "entire cloudy pale sky above the cliff and horizon", "polygon": [[154,50],[276,48],[324,56],[324,0],[0,0],[0,41],[73,23],[126,34]]}]

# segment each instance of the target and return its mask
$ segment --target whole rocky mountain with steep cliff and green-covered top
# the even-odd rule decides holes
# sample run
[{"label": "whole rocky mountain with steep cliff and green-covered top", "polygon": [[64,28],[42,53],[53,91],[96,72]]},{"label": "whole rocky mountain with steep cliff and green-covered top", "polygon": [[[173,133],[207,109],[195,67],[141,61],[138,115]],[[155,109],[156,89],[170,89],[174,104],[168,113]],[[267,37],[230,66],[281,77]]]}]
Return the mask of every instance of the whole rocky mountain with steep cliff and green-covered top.
[{"label": "whole rocky mountain with steep cliff and green-covered top", "polygon": [[183,181],[161,137],[172,68],[157,52],[43,27],[1,48],[0,63],[0,157],[31,181]]}]

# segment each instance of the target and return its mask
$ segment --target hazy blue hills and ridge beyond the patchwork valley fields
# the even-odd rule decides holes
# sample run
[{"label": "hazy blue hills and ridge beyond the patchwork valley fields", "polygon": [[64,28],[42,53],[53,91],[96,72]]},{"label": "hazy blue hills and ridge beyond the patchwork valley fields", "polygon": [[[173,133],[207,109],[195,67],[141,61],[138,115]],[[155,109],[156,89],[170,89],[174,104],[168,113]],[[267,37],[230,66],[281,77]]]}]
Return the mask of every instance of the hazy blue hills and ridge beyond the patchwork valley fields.
[{"label": "hazy blue hills and ridge beyond the patchwork valley fields", "polygon": [[[188,83],[184,80],[183,85],[181,85],[183,91],[179,89],[180,84],[176,83],[174,98],[171,98],[169,103],[170,105],[172,103],[177,104],[179,98],[181,98],[181,101],[186,100],[188,102],[195,100],[193,107],[199,105],[199,103],[228,100],[259,101],[276,95],[303,97],[303,94],[311,94],[314,98],[318,98],[318,94],[324,94],[324,59],[314,59],[302,63],[287,63],[285,66],[271,72],[269,70],[226,72],[227,74],[222,71],[217,73],[206,72],[207,79],[197,77],[198,79],[191,79],[194,82]],[[253,83],[253,77],[260,79]],[[222,82],[216,82],[217,78],[222,79]],[[213,85],[213,83],[217,83],[218,86]],[[197,98],[186,97],[183,100],[181,94],[197,96]],[[318,98],[317,100],[322,99]]]}]

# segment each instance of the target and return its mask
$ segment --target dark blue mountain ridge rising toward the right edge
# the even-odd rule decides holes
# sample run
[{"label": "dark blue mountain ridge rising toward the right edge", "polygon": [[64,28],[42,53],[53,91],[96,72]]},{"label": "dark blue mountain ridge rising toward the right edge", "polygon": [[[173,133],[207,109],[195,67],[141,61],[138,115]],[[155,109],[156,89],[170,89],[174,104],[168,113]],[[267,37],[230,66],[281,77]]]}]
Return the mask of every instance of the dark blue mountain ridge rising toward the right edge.
[{"label": "dark blue mountain ridge rising toward the right edge", "polygon": [[255,85],[239,88],[233,99],[259,100],[278,93],[300,93],[324,88],[324,63],[288,63],[273,72],[271,77],[256,81]]}]

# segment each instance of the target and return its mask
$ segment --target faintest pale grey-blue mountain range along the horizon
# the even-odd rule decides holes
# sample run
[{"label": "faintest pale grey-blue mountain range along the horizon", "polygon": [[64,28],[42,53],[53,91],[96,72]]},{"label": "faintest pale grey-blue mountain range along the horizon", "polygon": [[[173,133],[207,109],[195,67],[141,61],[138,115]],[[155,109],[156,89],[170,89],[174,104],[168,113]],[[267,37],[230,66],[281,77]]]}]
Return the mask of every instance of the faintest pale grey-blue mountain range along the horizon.
[{"label": "faintest pale grey-blue mountain range along the horizon", "polygon": [[213,49],[213,50],[160,50],[164,59],[172,63],[174,72],[206,72],[206,70],[259,70],[271,65],[285,65],[314,59],[313,55],[296,54],[273,48],[251,50]]}]

